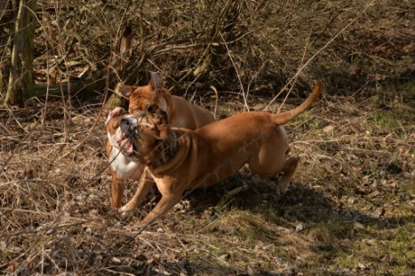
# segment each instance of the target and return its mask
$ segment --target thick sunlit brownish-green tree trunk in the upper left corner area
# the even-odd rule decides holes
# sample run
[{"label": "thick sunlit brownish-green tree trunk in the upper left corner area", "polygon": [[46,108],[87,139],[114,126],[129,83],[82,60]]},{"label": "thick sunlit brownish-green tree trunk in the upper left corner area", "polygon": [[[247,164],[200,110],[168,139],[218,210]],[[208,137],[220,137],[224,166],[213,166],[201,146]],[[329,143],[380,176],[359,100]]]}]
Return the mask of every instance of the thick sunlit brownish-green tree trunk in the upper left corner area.
[{"label": "thick sunlit brownish-green tree trunk in the upper left corner area", "polygon": [[20,0],[16,17],[9,85],[5,97],[7,105],[22,105],[33,89],[33,38],[36,0]]}]

